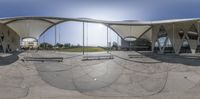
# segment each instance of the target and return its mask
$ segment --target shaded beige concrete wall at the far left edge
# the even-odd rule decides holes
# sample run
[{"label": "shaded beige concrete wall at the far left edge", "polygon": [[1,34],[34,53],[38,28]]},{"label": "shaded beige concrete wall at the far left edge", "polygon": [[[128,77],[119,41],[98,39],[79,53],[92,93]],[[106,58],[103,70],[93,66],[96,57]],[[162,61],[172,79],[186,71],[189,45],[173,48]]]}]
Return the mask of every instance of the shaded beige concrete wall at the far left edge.
[{"label": "shaded beige concrete wall at the far left edge", "polygon": [[8,26],[0,24],[0,45],[3,47],[3,52],[15,51],[20,48],[20,37]]}]

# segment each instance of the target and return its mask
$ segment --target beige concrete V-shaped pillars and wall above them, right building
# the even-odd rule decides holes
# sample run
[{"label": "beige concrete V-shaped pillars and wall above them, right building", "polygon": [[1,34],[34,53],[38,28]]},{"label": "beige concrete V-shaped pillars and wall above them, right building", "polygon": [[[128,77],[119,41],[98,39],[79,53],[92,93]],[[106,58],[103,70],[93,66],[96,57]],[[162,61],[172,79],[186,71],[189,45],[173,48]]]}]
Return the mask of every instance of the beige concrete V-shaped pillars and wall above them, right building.
[{"label": "beige concrete V-shaped pillars and wall above them, right building", "polygon": [[[196,48],[198,45],[198,40],[190,40],[187,36],[187,32],[189,31],[192,24],[195,24],[196,27],[198,27],[198,25],[199,25],[195,21],[153,25],[152,26],[152,51],[154,51],[155,42],[158,39],[159,28],[160,28],[160,26],[163,25],[176,54],[179,54],[179,52],[180,52],[184,37],[187,37],[187,41],[191,48],[191,52],[192,52],[192,54],[195,54]],[[184,33],[183,38],[181,38],[179,36],[180,30],[182,30]],[[198,30],[198,32],[199,32],[199,30]],[[160,51],[164,52],[164,49],[162,49]]]}]

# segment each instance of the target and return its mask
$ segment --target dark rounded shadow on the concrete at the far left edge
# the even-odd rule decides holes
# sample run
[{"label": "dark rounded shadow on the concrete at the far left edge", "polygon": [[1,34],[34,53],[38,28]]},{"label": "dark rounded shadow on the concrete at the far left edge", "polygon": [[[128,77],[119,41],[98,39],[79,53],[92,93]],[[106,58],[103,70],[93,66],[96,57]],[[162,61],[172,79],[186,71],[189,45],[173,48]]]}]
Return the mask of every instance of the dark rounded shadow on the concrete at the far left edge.
[{"label": "dark rounded shadow on the concrete at the far left edge", "polygon": [[16,62],[19,59],[18,57],[19,54],[20,52],[14,52],[10,53],[10,55],[8,56],[3,56],[3,57],[0,56],[0,66],[6,66]]}]

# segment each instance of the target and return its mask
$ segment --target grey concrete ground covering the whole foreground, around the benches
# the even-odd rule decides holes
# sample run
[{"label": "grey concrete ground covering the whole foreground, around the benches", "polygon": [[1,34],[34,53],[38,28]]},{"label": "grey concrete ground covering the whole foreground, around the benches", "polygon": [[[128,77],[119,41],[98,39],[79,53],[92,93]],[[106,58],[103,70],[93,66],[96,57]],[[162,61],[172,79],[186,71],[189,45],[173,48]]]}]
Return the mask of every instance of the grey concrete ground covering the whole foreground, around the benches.
[{"label": "grey concrete ground covering the whole foreground, around the benches", "polygon": [[[0,99],[199,99],[200,55],[111,52],[82,61],[82,53],[29,51],[0,55]],[[86,53],[102,55],[101,53]],[[22,62],[25,56],[63,62]]]}]

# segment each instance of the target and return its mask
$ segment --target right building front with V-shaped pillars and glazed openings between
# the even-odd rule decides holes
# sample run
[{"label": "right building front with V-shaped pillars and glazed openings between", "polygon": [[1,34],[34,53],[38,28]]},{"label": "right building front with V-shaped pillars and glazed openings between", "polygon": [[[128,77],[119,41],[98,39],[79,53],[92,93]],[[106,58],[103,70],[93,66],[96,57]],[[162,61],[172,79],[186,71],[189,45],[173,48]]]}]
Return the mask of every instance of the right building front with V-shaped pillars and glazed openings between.
[{"label": "right building front with V-shaped pillars and glazed openings between", "polygon": [[198,21],[153,25],[152,33],[152,51],[165,53],[170,47],[176,54],[198,52]]}]

